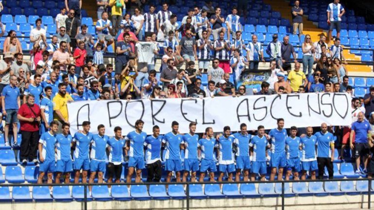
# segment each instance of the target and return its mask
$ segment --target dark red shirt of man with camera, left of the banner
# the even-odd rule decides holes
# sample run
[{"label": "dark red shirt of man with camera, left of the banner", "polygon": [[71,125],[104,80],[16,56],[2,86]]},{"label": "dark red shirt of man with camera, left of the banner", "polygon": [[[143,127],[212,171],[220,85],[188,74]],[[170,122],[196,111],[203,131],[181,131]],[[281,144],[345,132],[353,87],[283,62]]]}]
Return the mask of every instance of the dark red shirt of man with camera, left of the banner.
[{"label": "dark red shirt of man with camera, left of the banner", "polygon": [[[31,111],[30,108],[33,109],[36,116]],[[36,118],[36,117],[40,116],[40,108],[36,104],[29,107],[27,105],[27,103],[25,103],[25,104],[22,104],[21,107],[18,109],[18,114],[20,114],[21,116],[26,117],[26,118],[30,118],[30,117]],[[19,124],[21,125],[20,130],[22,130],[22,131],[33,132],[33,131],[38,131],[39,130],[39,124],[36,123],[36,122],[31,123],[31,122],[26,122],[26,121],[19,120]]]}]

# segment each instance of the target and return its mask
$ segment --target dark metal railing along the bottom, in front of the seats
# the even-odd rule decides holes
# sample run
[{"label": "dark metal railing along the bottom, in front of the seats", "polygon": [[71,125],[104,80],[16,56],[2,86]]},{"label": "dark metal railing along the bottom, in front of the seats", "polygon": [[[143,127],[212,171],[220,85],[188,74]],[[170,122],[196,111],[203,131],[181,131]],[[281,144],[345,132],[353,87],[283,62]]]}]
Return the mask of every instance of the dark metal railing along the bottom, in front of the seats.
[{"label": "dark metal railing along the bottom, in front of the seats", "polygon": [[[207,185],[207,184],[281,183],[282,184],[282,192],[281,192],[281,194],[279,194],[279,196],[281,196],[281,208],[282,208],[282,210],[284,210],[285,209],[285,183],[326,182],[326,181],[368,181],[368,191],[367,191],[368,201],[367,201],[367,203],[368,203],[368,209],[371,209],[372,179],[369,179],[369,178],[336,178],[336,179],[315,179],[315,180],[307,179],[307,180],[281,180],[281,181],[278,181],[278,180],[274,180],[274,181],[217,181],[217,182],[206,181],[206,182],[203,182],[203,183],[201,183],[201,182],[141,182],[141,183],[134,183],[134,182],[124,183],[124,182],[121,182],[121,183],[78,183],[78,184],[75,184],[75,183],[69,183],[69,184],[47,184],[47,183],[43,183],[43,184],[1,184],[0,186],[1,187],[84,186],[84,198],[83,198],[82,202],[84,203],[84,210],[87,210],[87,201],[88,201],[87,187],[88,186],[95,186],[95,185],[101,185],[101,186],[128,185],[128,186],[132,186],[132,185],[156,185],[156,184],[157,185],[175,185],[175,184],[176,185],[186,185],[186,198],[183,199],[183,200],[186,200],[186,209],[189,210],[190,209],[190,199],[192,199],[189,195],[189,193],[190,193],[189,192],[189,185],[191,185],[191,184]],[[275,190],[275,187],[274,187],[274,190]],[[344,192],[342,192],[342,193],[344,193]],[[147,192],[147,194],[148,194],[148,192]],[[275,193],[275,191],[274,191],[274,194],[277,194],[277,193]],[[261,194],[259,194],[259,195],[261,195]],[[297,193],[295,193],[295,195],[297,195]],[[224,196],[224,194],[222,194],[222,196]],[[313,193],[310,193],[310,196],[314,196]],[[243,197],[245,197],[245,195],[243,195]],[[363,204],[364,201],[362,200],[361,203]],[[363,208],[363,205],[362,205],[362,208]]]}]

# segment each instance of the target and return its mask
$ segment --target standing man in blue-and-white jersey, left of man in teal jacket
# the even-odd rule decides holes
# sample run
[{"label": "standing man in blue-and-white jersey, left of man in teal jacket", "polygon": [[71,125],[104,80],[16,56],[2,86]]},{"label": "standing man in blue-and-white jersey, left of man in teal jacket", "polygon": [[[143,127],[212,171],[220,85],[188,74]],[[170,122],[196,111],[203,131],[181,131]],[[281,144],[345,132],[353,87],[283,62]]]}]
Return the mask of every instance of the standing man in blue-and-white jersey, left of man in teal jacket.
[{"label": "standing man in blue-and-white jersey, left of man in teal jacket", "polygon": [[247,60],[249,61],[249,69],[257,70],[260,61],[265,62],[263,48],[260,42],[257,42],[257,35],[252,35],[252,42],[248,43]]}]

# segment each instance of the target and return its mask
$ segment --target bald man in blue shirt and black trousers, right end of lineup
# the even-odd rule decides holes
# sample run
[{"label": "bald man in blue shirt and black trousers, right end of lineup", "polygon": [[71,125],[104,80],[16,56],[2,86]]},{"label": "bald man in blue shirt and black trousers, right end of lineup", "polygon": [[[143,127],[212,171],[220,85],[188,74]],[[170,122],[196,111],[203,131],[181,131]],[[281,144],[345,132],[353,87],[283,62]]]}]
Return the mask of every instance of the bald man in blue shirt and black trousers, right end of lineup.
[{"label": "bald man in blue shirt and black trousers, right end of lineup", "polygon": [[327,167],[328,178],[334,177],[334,136],[327,131],[327,124],[322,123],[321,131],[314,134],[317,137],[318,178],[323,179],[324,167]]}]

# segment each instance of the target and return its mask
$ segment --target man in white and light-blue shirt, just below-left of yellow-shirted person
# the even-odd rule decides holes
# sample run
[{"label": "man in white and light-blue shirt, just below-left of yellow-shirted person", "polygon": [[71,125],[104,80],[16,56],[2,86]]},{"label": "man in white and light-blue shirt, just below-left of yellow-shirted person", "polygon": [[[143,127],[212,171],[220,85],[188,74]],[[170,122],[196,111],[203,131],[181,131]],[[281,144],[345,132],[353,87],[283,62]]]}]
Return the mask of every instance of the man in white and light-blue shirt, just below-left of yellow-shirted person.
[{"label": "man in white and light-blue shirt, just below-left of yellow-shirted person", "polygon": [[[112,14],[112,20],[116,19],[113,16],[117,15]],[[98,41],[100,40],[100,43],[102,45],[105,44],[106,46],[109,46],[114,42],[113,36],[110,35],[110,31],[112,31],[112,22],[108,19],[108,13],[103,12],[102,18],[96,22],[96,32],[98,34]],[[115,34],[117,34],[117,32]]]}]

